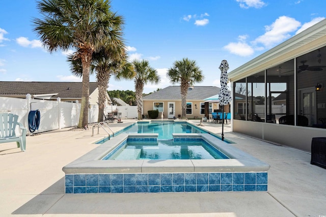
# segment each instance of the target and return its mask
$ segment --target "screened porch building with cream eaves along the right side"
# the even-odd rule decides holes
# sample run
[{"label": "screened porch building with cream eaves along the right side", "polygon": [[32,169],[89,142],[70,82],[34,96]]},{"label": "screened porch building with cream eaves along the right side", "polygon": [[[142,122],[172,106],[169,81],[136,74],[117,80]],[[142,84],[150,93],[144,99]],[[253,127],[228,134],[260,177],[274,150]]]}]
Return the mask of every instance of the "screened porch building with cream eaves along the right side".
[{"label": "screened porch building with cream eaves along the right side", "polygon": [[[326,135],[326,19],[229,72],[228,78],[233,132],[311,151],[312,138]],[[257,105],[253,98],[265,102]]]}]

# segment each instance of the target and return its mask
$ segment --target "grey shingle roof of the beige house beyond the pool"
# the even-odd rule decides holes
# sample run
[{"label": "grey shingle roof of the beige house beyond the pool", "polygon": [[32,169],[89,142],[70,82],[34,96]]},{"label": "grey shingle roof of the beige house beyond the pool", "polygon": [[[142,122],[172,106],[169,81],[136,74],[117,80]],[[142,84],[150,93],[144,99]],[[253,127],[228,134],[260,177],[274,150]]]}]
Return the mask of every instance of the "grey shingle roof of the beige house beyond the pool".
[{"label": "grey shingle roof of the beige house beyond the pool", "polygon": [[[220,92],[216,86],[192,86],[188,88],[187,100],[204,100]],[[168,86],[143,97],[143,100],[180,100],[180,86]]]}]

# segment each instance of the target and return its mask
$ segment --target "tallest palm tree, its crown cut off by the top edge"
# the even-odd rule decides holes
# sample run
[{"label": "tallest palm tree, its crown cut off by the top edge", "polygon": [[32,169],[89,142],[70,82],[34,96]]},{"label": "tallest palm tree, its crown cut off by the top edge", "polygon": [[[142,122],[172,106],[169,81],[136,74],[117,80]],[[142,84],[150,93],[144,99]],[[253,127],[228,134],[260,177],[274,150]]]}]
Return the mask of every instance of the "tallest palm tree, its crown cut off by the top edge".
[{"label": "tallest palm tree, its crown cut off by the top edge", "polygon": [[42,19],[34,20],[34,31],[49,51],[76,49],[83,68],[82,106],[78,128],[88,126],[89,78],[93,52],[122,40],[123,17],[110,11],[106,0],[43,0],[37,8]]}]

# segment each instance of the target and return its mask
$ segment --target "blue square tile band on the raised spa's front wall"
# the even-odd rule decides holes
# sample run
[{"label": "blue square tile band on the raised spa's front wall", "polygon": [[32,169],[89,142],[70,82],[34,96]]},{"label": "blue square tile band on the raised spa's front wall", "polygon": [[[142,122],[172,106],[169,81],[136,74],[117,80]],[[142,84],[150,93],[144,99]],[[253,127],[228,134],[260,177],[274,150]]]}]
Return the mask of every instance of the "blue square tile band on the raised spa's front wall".
[{"label": "blue square tile band on the raised spa's front wall", "polygon": [[[88,185],[89,179],[91,183],[97,185]],[[66,194],[224,191],[267,191],[267,172],[66,174],[65,176]]]}]

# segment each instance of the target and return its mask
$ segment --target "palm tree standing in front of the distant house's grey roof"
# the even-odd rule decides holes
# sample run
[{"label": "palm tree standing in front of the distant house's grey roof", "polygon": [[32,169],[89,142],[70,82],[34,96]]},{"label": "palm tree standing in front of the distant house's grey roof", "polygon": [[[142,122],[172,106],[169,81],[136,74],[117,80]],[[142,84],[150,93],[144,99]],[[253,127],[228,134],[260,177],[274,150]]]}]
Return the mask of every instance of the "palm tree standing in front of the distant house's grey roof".
[{"label": "palm tree standing in front of the distant house's grey roof", "polygon": [[202,71],[196,65],[195,60],[183,58],[182,60],[176,60],[173,63],[173,67],[168,70],[167,77],[170,79],[172,84],[180,83],[181,118],[185,119],[188,88],[189,86],[204,80]]}]

